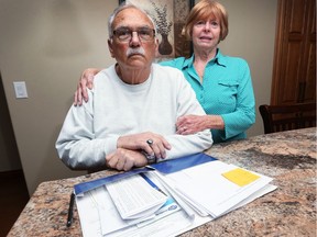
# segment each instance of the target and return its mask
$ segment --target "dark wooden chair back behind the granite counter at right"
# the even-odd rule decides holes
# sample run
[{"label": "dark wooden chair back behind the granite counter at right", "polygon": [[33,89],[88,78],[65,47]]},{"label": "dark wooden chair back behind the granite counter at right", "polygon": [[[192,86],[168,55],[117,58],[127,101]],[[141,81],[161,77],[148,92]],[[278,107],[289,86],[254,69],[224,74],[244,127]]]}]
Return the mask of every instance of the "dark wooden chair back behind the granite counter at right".
[{"label": "dark wooden chair back behind the granite counter at right", "polygon": [[316,126],[316,103],[259,106],[264,134]]}]

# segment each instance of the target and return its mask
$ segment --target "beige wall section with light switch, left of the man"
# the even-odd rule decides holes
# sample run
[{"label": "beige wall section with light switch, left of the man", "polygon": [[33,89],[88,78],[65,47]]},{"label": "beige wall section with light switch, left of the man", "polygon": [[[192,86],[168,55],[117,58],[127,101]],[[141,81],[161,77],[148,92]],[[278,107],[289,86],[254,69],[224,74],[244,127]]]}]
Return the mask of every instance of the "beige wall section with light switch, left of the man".
[{"label": "beige wall section with light switch, left of the man", "polygon": [[[0,0],[0,70],[30,194],[69,171],[54,144],[84,68],[111,63],[108,15],[117,0]],[[26,82],[17,100],[12,82]]]}]

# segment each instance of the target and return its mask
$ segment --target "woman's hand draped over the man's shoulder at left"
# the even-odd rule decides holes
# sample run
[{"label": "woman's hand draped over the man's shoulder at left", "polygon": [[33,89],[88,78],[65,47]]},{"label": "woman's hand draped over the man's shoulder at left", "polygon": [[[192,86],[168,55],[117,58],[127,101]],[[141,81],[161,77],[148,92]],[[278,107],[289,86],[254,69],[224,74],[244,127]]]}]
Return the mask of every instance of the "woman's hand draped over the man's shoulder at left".
[{"label": "woman's hand draped over the man's shoulder at left", "polygon": [[74,94],[74,105],[81,105],[83,100],[85,102],[88,101],[88,93],[87,93],[87,88],[92,89],[94,87],[94,77],[100,71],[98,68],[88,68],[86,69],[79,79],[79,82],[77,84],[77,90],[75,91]]}]

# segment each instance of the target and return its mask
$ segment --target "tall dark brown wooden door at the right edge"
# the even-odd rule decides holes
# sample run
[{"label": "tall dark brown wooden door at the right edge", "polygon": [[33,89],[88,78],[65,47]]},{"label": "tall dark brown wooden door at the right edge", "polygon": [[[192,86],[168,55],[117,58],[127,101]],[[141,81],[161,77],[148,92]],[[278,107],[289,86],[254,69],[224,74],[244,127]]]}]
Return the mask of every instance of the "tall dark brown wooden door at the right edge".
[{"label": "tall dark brown wooden door at the right edge", "polygon": [[316,0],[278,0],[271,104],[316,101]]}]

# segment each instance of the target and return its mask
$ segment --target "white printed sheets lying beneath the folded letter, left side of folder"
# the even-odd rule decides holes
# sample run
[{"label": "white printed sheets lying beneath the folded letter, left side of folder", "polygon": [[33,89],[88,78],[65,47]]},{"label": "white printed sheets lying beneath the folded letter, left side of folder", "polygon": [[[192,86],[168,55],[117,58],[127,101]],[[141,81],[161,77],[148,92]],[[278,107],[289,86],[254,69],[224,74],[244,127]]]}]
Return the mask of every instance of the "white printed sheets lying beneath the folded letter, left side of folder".
[{"label": "white printed sheets lying beneath the folded letter, left side of folder", "polygon": [[[157,178],[156,178],[157,179]],[[151,177],[155,180],[155,176]],[[160,187],[166,194],[168,191],[164,187]],[[172,200],[172,201],[171,201]],[[173,201],[168,194],[166,205],[158,210],[155,214],[144,218],[122,219],[114,203],[111,201],[109,192],[105,187],[97,188],[85,193],[84,196],[77,196],[77,208],[80,216],[83,236],[173,236],[173,233],[188,227],[194,219],[182,210],[182,207]],[[175,228],[166,228],[171,223],[175,222]],[[153,230],[155,229],[155,235]]]}]

